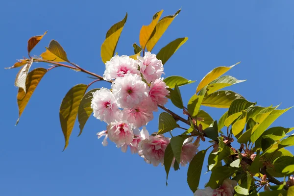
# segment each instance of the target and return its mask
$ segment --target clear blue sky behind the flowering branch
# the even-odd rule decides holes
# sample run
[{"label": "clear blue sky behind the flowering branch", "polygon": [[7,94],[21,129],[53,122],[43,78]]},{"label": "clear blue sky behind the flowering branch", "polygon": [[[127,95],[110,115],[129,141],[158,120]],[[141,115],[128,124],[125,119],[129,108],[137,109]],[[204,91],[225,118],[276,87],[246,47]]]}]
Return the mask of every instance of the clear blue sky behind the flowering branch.
[{"label": "clear blue sky behind the flowering branch", "polygon": [[[48,34],[31,54],[45,51],[51,39],[57,40],[68,58],[81,67],[102,74],[104,65],[100,46],[108,28],[128,19],[117,51],[133,54],[133,43],[139,43],[142,25],[148,25],[153,14],[164,9],[163,16],[182,12],[175,18],[154,48],[157,53],[172,40],[189,37],[166,63],[165,76],[181,75],[196,83],[181,87],[184,103],[195,93],[201,78],[217,66],[241,64],[228,74],[246,82],[230,87],[258,105],[282,103],[294,105],[294,1],[69,1],[6,0],[0,2],[1,67],[10,67],[26,56],[27,40]],[[34,64],[33,67],[48,67]],[[187,182],[187,168],[171,172],[165,185],[164,167],[153,167],[137,155],[123,153],[114,144],[102,147],[96,133],[105,129],[91,117],[84,132],[73,129],[68,148],[62,152],[64,138],[59,123],[59,106],[66,92],[75,84],[88,84],[84,73],[56,68],[42,79],[30,99],[20,123],[14,87],[18,69],[0,71],[1,137],[0,195],[3,196],[165,196],[193,195]],[[108,86],[105,82],[93,87]],[[175,112],[181,111],[167,104]],[[205,108],[214,119],[224,109]],[[157,131],[158,115],[147,125]],[[293,127],[294,110],[273,125]],[[174,130],[176,133],[181,130]],[[202,144],[200,149],[207,147]],[[293,149],[292,149],[293,150]],[[204,171],[202,172],[204,173]],[[200,186],[209,174],[202,175]]]}]

